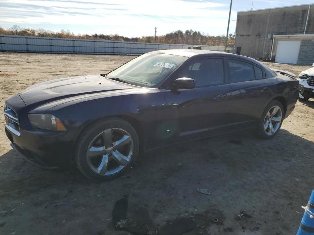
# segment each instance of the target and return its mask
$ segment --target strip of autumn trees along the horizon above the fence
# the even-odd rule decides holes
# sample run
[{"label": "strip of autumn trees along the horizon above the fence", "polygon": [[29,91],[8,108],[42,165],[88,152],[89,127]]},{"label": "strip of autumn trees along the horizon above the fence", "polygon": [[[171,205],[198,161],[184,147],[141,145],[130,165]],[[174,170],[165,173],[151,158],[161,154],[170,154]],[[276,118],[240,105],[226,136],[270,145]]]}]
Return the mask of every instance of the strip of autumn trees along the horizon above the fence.
[{"label": "strip of autumn trees along the horizon above the fence", "polygon": [[[124,37],[118,34],[74,34],[70,30],[61,29],[60,32],[53,32],[45,29],[21,28],[14,25],[11,28],[4,29],[0,27],[0,34],[22,35],[22,36],[38,36],[52,38],[75,38],[75,39],[105,39],[123,42],[143,42],[143,43],[170,43],[170,44],[195,44],[209,46],[224,46],[226,36],[210,36],[194,30],[186,30],[185,32],[177,30],[162,36],[142,36],[142,37]],[[228,35],[228,46],[234,46],[235,33]]]}]

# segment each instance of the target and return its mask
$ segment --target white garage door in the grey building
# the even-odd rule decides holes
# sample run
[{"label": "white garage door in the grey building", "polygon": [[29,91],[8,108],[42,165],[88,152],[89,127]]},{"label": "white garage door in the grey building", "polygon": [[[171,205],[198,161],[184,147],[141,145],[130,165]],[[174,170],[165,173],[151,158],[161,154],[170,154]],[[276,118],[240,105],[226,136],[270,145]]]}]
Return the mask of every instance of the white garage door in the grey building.
[{"label": "white garage door in the grey building", "polygon": [[298,40],[279,40],[275,62],[296,64],[298,62],[301,41]]}]

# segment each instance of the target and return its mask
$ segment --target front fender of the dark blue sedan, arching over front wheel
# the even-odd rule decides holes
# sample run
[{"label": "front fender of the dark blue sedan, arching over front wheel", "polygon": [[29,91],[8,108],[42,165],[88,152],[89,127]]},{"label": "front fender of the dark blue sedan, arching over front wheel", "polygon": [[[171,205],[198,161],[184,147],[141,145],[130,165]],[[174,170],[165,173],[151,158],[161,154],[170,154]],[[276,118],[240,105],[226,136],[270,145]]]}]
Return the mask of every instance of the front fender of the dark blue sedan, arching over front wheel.
[{"label": "front fender of the dark blue sedan, arching over front wheel", "polygon": [[164,90],[147,90],[149,91],[145,93],[128,93],[109,97],[96,95],[70,99],[62,103],[60,101],[59,104],[54,102],[54,104],[38,107],[32,112],[54,114],[62,120],[74,139],[78,138],[87,125],[99,119],[130,117],[141,123],[146,146],[156,142],[154,133],[157,132],[157,128],[162,121],[161,109],[164,104]]}]

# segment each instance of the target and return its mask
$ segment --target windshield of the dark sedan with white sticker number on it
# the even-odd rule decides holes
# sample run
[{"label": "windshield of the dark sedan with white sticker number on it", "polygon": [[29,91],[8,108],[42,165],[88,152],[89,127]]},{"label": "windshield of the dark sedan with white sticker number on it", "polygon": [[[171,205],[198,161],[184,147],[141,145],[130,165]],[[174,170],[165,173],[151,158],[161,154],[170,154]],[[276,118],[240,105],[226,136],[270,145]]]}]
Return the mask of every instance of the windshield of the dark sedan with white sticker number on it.
[{"label": "windshield of the dark sedan with white sticker number on it", "polygon": [[176,70],[187,57],[147,53],[107,74],[108,78],[133,85],[154,87]]}]

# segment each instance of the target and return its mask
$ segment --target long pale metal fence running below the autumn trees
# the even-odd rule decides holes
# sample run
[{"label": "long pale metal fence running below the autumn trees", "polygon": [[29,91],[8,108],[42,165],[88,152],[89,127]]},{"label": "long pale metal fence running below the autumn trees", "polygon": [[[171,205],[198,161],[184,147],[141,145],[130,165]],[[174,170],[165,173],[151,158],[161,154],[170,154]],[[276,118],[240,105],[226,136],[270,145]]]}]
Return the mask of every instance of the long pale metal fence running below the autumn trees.
[{"label": "long pale metal fence running below the autumn trees", "polygon": [[[135,43],[0,34],[0,51],[140,55],[154,50],[187,49],[188,46],[200,46],[202,50],[224,51],[224,47],[221,46]],[[232,47],[227,47],[227,50],[232,51]]]}]

